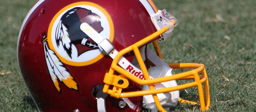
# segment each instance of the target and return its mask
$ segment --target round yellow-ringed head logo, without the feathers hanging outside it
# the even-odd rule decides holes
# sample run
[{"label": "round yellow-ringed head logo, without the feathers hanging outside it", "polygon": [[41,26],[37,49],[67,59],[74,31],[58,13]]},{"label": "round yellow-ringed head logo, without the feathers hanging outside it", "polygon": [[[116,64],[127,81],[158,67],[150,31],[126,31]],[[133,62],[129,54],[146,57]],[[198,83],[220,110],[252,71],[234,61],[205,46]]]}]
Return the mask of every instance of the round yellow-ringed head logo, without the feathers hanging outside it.
[{"label": "round yellow-ringed head logo, without the feathers hanging outside it", "polygon": [[114,25],[104,8],[91,2],[69,4],[56,13],[47,32],[49,48],[64,64],[90,65],[105,55],[98,44],[81,31],[81,23],[89,24],[102,37],[113,42]]}]

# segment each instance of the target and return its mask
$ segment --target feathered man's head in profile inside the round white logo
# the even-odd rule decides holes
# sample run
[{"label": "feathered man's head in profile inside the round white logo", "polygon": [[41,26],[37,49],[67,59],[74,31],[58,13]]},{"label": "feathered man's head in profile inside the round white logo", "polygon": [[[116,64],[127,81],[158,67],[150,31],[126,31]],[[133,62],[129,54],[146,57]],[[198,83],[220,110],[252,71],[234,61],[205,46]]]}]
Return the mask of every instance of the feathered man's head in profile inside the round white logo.
[{"label": "feathered man's head in profile inside the round white logo", "polygon": [[[56,28],[55,39],[57,46],[62,45],[64,51],[67,52],[71,59],[77,58],[88,50],[98,49],[98,45],[81,31],[80,25],[87,23],[100,33],[103,31],[103,28],[99,20],[100,16],[85,8],[69,10],[61,17]],[[72,47],[72,44],[75,46]],[[81,45],[85,47],[81,47]]]}]

